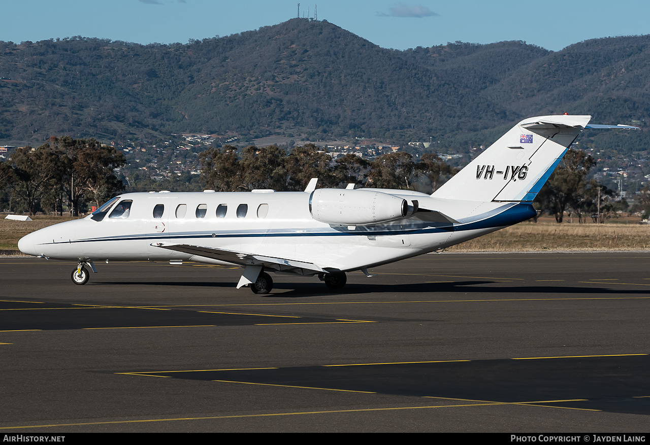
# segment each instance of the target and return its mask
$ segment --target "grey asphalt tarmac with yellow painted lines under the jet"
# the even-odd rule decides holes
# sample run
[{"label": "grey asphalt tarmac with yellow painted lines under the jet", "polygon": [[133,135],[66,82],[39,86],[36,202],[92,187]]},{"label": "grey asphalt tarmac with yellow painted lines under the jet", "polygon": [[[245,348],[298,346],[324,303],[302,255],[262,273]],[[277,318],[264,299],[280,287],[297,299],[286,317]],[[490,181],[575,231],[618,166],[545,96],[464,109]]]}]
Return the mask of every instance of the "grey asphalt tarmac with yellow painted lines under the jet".
[{"label": "grey asphalt tarmac with yellow painted lines under the jet", "polygon": [[97,266],[0,259],[2,433],[649,430],[647,252]]}]

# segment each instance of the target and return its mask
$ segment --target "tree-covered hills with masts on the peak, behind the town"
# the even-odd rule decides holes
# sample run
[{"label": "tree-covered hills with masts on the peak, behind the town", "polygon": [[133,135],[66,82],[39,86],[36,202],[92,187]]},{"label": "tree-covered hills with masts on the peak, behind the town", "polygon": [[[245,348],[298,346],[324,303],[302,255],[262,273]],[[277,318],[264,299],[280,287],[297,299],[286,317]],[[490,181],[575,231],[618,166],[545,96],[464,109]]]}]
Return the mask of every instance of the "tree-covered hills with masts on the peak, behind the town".
[{"label": "tree-covered hills with masts on the peak, behind the town", "polygon": [[[489,144],[495,129],[539,114],[645,127],[650,36],[558,52],[523,42],[396,51],[327,21],[296,18],[188,44],[0,42],[0,77],[0,144],[201,132],[434,136],[463,146]],[[647,134],[613,143],[645,149]]]}]

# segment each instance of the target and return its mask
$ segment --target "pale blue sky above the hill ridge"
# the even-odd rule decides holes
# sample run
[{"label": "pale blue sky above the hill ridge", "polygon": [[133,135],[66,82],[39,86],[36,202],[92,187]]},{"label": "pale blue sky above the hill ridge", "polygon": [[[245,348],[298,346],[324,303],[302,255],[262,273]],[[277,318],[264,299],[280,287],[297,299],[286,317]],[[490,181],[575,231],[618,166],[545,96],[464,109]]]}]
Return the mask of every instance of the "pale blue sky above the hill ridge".
[{"label": "pale blue sky above the hill ridge", "polygon": [[[275,0],[0,0],[0,40],[81,35],[149,44],[226,36],[296,17]],[[320,0],[318,19],[382,47],[525,40],[558,51],[590,38],[650,34],[650,1]],[[300,16],[314,3],[301,2]]]}]

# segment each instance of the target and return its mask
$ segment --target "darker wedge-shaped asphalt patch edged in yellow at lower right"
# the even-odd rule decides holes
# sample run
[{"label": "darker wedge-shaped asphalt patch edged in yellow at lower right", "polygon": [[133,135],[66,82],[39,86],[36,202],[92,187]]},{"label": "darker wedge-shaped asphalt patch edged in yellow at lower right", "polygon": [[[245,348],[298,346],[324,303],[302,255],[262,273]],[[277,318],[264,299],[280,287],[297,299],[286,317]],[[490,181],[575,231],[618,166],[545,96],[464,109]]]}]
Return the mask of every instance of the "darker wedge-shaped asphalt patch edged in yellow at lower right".
[{"label": "darker wedge-shaped asphalt patch edged in yellow at lower right", "polygon": [[643,354],[129,374],[649,414],[649,365]]}]

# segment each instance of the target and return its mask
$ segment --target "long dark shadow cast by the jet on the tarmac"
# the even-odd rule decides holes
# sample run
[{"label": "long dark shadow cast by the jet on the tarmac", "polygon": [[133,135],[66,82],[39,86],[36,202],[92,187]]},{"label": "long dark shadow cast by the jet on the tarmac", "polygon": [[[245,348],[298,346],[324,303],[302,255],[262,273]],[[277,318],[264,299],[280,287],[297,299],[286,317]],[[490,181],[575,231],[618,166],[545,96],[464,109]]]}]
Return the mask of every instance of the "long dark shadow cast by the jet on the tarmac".
[{"label": "long dark shadow cast by the jet on the tarmac", "polygon": [[[355,295],[370,293],[391,293],[401,294],[440,294],[440,293],[462,293],[462,294],[578,294],[578,295],[638,295],[650,296],[650,290],[644,289],[610,289],[604,287],[590,286],[538,286],[538,285],[506,285],[498,286],[503,281],[491,280],[474,280],[474,281],[454,281],[451,283],[404,283],[404,284],[356,284],[348,283],[341,290],[331,290],[326,288],[323,283],[275,283],[274,290],[270,294],[257,295],[262,298],[302,298],[322,295]],[[98,285],[147,285],[147,286],[190,286],[190,287],[213,287],[213,288],[233,288],[233,282],[217,281],[103,281],[97,282]],[[495,286],[497,285],[497,286]],[[245,289],[237,292],[246,292]]]}]

